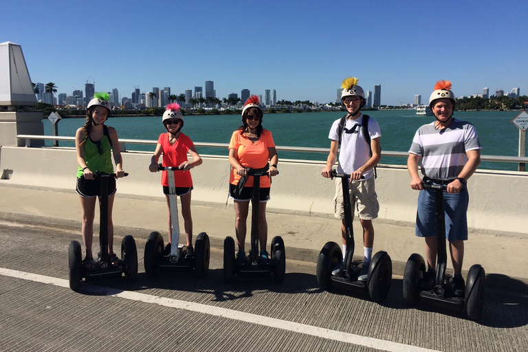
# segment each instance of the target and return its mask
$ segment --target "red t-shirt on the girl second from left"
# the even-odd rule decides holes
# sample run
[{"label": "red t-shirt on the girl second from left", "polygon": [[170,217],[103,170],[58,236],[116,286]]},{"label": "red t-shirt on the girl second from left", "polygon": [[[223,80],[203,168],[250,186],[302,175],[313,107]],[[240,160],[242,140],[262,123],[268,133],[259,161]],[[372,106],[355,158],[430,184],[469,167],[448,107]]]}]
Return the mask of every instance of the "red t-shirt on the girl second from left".
[{"label": "red t-shirt on the girl second from left", "polygon": [[[179,133],[178,140],[174,145],[168,142],[169,133],[159,135],[157,142],[162,145],[163,166],[179,166],[182,162],[188,161],[187,152],[195,146],[192,140],[184,133]],[[190,170],[174,171],[175,187],[192,187]],[[168,186],[167,172],[162,173],[162,186]]]}]

